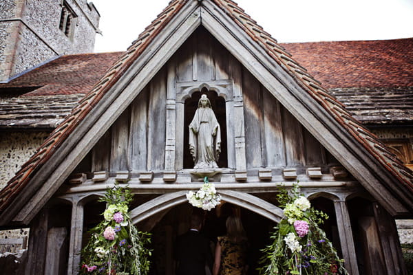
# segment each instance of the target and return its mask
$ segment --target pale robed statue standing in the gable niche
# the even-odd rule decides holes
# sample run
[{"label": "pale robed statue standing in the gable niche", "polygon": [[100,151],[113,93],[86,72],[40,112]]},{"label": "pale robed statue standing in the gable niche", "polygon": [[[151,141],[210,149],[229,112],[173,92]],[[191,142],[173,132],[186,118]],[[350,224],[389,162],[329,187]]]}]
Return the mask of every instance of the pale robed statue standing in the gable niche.
[{"label": "pale robed statue standing in the gable niche", "polygon": [[218,168],[221,153],[220,124],[205,94],[202,94],[198,109],[189,124],[189,150],[195,164],[193,168]]}]

